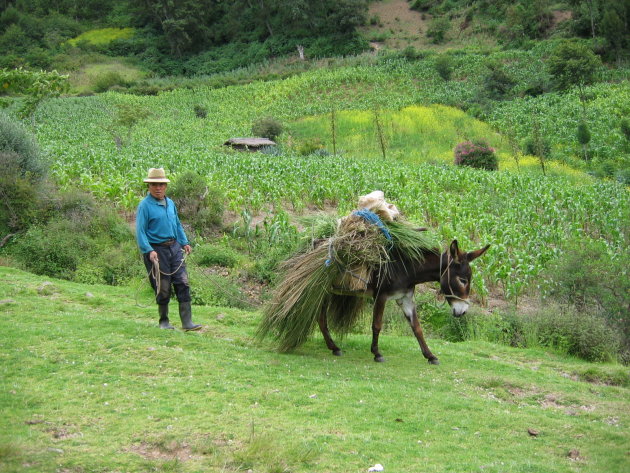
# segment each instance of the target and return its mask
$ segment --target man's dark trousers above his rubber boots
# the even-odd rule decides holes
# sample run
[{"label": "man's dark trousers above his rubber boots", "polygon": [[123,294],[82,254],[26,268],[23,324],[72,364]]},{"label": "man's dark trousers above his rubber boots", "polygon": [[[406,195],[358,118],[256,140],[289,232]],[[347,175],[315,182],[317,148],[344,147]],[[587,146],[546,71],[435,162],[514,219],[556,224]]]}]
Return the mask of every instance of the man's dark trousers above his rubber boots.
[{"label": "man's dark trousers above his rubber boots", "polygon": [[[144,266],[149,274],[149,282],[156,294],[159,305],[167,305],[171,300],[171,287],[175,288],[175,294],[179,302],[190,302],[190,284],[188,272],[184,261],[184,250],[178,242],[170,246],[152,245],[158,254],[160,262],[160,287],[158,292],[157,281],[151,275],[153,263],[149,259],[149,253],[143,255]],[[174,273],[174,274],[171,274]]]}]

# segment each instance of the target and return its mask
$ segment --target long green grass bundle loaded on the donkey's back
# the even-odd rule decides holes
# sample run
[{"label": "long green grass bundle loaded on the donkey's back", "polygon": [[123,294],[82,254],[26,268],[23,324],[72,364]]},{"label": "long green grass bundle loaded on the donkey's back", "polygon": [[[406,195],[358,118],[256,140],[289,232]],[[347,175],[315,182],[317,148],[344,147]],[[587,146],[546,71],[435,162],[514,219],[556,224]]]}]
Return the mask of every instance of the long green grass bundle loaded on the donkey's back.
[{"label": "long green grass bundle loaded on the donkey's back", "polygon": [[347,334],[363,313],[368,286],[387,276],[394,249],[422,261],[436,247],[427,232],[382,216],[387,215],[363,209],[315,222],[303,248],[282,265],[257,338],[271,336],[280,351],[292,351],[306,342],[322,313],[332,332]]}]

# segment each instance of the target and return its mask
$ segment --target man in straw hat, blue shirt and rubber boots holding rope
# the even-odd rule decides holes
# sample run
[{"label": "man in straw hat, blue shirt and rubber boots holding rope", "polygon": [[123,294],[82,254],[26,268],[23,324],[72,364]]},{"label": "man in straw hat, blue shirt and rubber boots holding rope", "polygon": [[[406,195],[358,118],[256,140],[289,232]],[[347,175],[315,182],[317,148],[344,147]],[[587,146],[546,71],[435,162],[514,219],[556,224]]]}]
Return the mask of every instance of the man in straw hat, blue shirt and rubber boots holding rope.
[{"label": "man in straw hat, blue shirt and rubber boots holding rope", "polygon": [[185,331],[199,330],[201,325],[192,322],[190,286],[184,263],[184,252],[188,255],[192,250],[175,203],[166,197],[170,180],[163,168],[151,168],[144,182],[149,184],[149,193],[138,205],[136,240],[156,294],[160,328],[174,328],[168,320],[172,284],[179,303],[182,328]]}]

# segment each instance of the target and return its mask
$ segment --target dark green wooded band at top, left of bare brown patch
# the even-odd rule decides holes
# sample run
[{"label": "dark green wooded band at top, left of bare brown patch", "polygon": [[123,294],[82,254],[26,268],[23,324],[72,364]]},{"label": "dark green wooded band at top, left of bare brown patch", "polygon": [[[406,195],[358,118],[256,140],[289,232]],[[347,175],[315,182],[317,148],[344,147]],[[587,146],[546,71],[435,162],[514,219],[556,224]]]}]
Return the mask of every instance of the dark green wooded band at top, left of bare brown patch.
[{"label": "dark green wooded band at top, left of bare brown patch", "polygon": [[[203,52],[256,62],[288,52],[333,56],[367,44],[366,0],[0,0],[0,67],[49,67],[66,41],[99,27],[133,27],[97,50],[136,56],[158,73],[192,73]],[[236,45],[236,47],[234,47]],[[82,45],[88,46],[88,45]],[[217,54],[219,48],[229,47]],[[212,53],[211,53],[212,55]],[[212,58],[208,58],[212,59]],[[237,61],[238,62],[238,61]],[[225,64],[224,67],[246,64]],[[196,71],[195,71],[196,72]],[[212,70],[204,73],[215,72]]]}]

